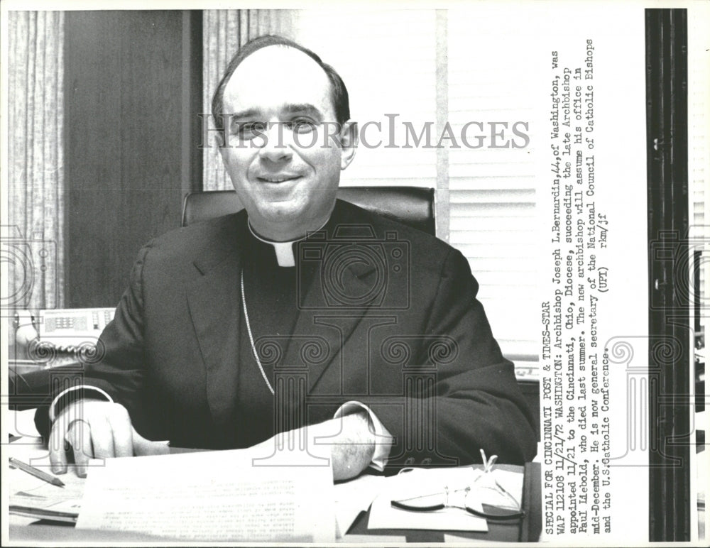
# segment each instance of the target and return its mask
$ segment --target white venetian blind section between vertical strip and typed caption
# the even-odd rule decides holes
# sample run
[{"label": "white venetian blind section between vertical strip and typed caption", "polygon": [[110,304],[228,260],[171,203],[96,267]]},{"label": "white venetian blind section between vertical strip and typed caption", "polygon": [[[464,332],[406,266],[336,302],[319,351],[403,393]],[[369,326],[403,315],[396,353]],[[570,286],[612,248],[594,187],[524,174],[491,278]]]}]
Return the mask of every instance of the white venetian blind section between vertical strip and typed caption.
[{"label": "white venetian blind section between vertical strip and typed caption", "polygon": [[[525,60],[529,28],[530,21],[511,16],[501,39],[499,13],[448,13],[449,122],[455,136],[466,123],[483,124],[465,131],[473,146],[481,136],[481,148],[459,142],[449,150],[450,243],[469,259],[493,334],[503,354],[518,363],[537,361],[539,324],[534,142],[526,145],[512,132],[517,123],[529,135],[533,117],[528,83],[536,75]],[[506,143],[508,148],[492,148]]]}]

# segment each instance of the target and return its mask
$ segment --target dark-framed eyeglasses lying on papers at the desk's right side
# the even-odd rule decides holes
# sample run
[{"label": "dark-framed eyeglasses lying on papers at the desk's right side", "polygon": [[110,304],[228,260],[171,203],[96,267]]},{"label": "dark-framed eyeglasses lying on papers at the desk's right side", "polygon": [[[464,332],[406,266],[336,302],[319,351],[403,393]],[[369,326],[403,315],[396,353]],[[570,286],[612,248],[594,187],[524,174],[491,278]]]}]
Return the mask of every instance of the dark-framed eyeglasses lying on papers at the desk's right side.
[{"label": "dark-framed eyeglasses lying on papers at the desk's right side", "polygon": [[[491,473],[496,456],[490,460],[486,459],[486,454],[481,450],[484,459],[484,471],[474,479],[471,486],[454,489],[444,486],[438,493],[428,495],[417,495],[415,497],[391,500],[393,508],[408,510],[410,512],[433,512],[444,508],[460,508],[486,520],[519,520],[525,517],[525,512],[520,508],[520,503],[515,497],[508,493]],[[495,504],[481,503],[481,500],[489,500],[491,491],[495,492],[493,498],[499,502]],[[480,508],[480,510],[479,510]]]}]

